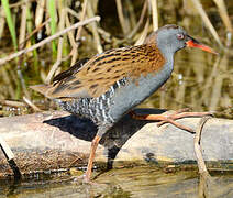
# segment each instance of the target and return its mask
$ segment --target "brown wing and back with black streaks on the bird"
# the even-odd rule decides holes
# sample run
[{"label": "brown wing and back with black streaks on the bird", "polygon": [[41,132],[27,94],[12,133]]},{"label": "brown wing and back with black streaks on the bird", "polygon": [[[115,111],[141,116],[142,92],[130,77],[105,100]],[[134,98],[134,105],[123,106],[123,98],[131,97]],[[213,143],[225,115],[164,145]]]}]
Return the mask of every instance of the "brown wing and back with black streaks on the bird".
[{"label": "brown wing and back with black streaks on the bird", "polygon": [[107,51],[89,59],[76,74],[55,84],[52,98],[96,98],[123,77],[136,79],[158,72],[165,58],[155,44]]}]

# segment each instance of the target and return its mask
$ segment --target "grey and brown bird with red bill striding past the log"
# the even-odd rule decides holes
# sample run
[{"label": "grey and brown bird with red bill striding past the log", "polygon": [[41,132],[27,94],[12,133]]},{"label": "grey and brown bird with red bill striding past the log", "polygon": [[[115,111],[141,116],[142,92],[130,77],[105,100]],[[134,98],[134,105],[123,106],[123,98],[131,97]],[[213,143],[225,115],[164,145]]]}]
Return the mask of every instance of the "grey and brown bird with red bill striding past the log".
[{"label": "grey and brown bird with red bill striding past the log", "polygon": [[80,118],[88,118],[98,131],[91,142],[84,180],[90,182],[96,148],[102,135],[124,114],[140,120],[170,122],[191,131],[175,120],[189,116],[202,117],[208,112],[177,112],[173,116],[140,116],[134,107],[143,102],[170,77],[174,55],[185,47],[196,47],[217,54],[188,35],[181,26],[168,24],[152,32],[142,45],[108,50],[91,58],[77,62],[68,70],[54,77],[48,85],[32,89],[55,100],[62,109]]}]

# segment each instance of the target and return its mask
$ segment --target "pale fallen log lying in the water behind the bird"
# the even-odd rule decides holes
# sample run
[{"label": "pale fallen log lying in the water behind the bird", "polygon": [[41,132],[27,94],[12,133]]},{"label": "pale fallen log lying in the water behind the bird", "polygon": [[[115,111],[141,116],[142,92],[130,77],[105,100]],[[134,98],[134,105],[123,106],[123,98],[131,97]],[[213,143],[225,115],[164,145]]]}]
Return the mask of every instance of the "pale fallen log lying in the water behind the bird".
[{"label": "pale fallen log lying in the water behind the bird", "polygon": [[[155,109],[137,109],[138,113],[159,113]],[[199,118],[178,122],[192,129]],[[22,174],[82,167],[87,164],[97,127],[64,111],[41,112],[0,119],[0,136],[14,154]],[[111,167],[122,163],[193,164],[193,134],[171,124],[157,128],[156,122],[134,120],[125,116],[101,140],[96,161]],[[207,166],[232,169],[233,120],[212,118],[202,129],[201,144]],[[0,176],[12,170],[0,152]]]}]

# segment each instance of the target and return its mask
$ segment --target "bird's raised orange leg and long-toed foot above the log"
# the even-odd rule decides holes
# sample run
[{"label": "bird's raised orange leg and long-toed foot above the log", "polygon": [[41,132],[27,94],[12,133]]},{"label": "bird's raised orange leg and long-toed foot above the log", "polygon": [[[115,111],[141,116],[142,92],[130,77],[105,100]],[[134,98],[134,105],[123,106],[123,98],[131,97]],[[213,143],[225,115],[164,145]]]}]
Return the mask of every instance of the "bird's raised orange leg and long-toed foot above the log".
[{"label": "bird's raised orange leg and long-toed foot above the log", "polygon": [[165,124],[165,123],[171,123],[175,127],[186,130],[190,133],[195,133],[195,130],[192,130],[189,127],[185,127],[176,120],[182,119],[182,118],[190,118],[190,117],[204,117],[204,116],[213,116],[211,112],[187,112],[188,109],[180,109],[175,112],[164,112],[162,114],[136,114],[134,111],[131,111],[131,117],[137,120],[153,120],[153,121],[159,121],[157,123],[158,127]]}]

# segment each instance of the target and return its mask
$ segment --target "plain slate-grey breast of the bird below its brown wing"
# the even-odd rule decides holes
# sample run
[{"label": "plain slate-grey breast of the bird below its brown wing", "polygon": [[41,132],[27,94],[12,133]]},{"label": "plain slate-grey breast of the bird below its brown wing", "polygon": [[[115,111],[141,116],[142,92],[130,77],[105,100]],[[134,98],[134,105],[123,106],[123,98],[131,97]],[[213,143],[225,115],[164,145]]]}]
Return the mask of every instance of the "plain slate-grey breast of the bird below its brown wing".
[{"label": "plain slate-grey breast of the bird below its brown wing", "polygon": [[137,84],[129,79],[129,82],[121,89],[116,89],[112,98],[113,103],[110,107],[109,114],[113,120],[119,120],[124,113],[143,102],[163,84],[167,81],[173,72],[173,64],[165,64],[159,73],[152,73],[147,76],[141,76]]}]

